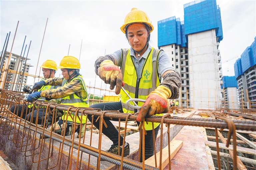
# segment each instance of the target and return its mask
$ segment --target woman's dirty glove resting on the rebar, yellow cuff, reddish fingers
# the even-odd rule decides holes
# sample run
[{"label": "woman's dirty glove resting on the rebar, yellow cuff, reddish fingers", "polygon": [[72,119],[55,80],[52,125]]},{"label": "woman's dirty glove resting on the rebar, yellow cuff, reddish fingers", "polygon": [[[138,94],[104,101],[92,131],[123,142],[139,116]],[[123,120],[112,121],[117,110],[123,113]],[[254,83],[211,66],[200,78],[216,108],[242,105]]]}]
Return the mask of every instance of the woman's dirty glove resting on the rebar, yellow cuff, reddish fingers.
[{"label": "woman's dirty glove resting on the rebar, yellow cuff, reddish fingers", "polygon": [[146,116],[150,117],[155,114],[167,113],[169,111],[168,98],[172,95],[171,90],[165,86],[158,86],[152,91],[142,105],[137,121],[142,121]]}]

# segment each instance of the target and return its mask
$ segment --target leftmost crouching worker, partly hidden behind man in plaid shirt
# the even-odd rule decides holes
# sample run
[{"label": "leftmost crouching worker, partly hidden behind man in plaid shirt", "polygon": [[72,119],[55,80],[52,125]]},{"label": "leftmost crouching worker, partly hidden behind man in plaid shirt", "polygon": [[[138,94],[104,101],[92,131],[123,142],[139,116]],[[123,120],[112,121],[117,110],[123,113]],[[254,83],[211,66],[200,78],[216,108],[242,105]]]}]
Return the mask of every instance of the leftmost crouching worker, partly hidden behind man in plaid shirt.
[{"label": "leftmost crouching worker, partly hidden behind man in plaid shirt", "polygon": [[[54,78],[55,77],[55,73],[56,73],[56,70],[57,70],[56,62],[54,62],[52,60],[46,60],[45,62],[43,62],[42,66],[40,66],[40,67],[42,68],[43,76],[44,76],[44,78],[41,81],[46,80],[48,78]],[[60,87],[60,86],[54,86],[54,85],[42,86],[37,91],[57,89],[58,87]],[[29,86],[24,86],[23,91],[27,92],[27,93],[32,93],[33,92],[33,91],[31,91],[31,88]],[[45,101],[49,101],[49,100],[51,100],[51,98],[46,98],[45,99]],[[17,106],[12,106],[10,111],[12,113],[17,114],[18,116],[21,116],[22,106],[23,106],[22,104],[18,104]],[[37,106],[35,106],[35,107],[32,107],[32,106],[33,106],[33,104],[28,105],[28,107],[24,107],[22,118],[23,119],[26,118],[26,120],[30,121],[31,115],[33,115],[32,116],[33,117],[33,123],[36,123],[36,117],[38,116],[38,122],[37,123],[42,124],[42,122],[45,119],[45,113],[46,113],[45,108],[39,108],[38,109],[38,115],[37,115],[37,110],[35,109],[35,107],[37,107]],[[27,116],[26,116],[27,110],[30,111],[30,113],[27,114]]]}]

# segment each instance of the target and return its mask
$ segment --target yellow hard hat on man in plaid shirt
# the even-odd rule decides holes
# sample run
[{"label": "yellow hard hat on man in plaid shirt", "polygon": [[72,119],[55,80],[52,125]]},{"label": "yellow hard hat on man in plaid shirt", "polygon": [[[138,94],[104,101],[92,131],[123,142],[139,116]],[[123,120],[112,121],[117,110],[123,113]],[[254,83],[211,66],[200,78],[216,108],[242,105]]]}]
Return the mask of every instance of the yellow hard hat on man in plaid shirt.
[{"label": "yellow hard hat on man in plaid shirt", "polygon": [[81,69],[79,60],[73,56],[65,56],[57,68]]}]

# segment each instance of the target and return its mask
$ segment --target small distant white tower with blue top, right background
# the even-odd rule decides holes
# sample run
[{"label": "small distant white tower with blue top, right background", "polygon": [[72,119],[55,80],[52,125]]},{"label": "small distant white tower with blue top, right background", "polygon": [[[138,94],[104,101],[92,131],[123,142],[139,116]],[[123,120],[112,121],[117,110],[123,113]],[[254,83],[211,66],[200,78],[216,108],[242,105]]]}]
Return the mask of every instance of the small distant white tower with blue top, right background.
[{"label": "small distant white tower with blue top, right background", "polygon": [[223,105],[229,109],[239,109],[238,92],[237,92],[237,81],[235,76],[223,76]]}]

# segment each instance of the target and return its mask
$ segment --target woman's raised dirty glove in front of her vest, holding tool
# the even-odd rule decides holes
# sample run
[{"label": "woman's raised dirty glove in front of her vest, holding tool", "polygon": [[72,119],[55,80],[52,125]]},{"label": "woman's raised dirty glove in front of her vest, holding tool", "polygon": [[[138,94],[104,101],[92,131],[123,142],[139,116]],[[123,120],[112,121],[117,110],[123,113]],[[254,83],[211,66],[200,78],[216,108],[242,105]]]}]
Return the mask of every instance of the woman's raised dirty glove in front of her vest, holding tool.
[{"label": "woman's raised dirty glove in front of her vest, holding tool", "polygon": [[116,94],[120,93],[121,87],[124,86],[121,70],[110,60],[104,60],[98,68],[99,77],[110,84],[110,89],[113,90],[116,86]]}]

